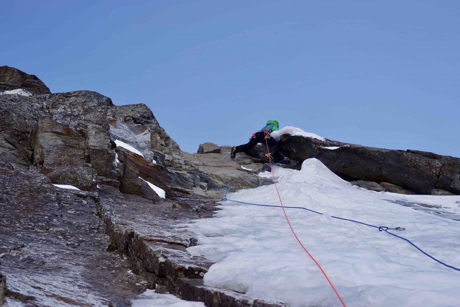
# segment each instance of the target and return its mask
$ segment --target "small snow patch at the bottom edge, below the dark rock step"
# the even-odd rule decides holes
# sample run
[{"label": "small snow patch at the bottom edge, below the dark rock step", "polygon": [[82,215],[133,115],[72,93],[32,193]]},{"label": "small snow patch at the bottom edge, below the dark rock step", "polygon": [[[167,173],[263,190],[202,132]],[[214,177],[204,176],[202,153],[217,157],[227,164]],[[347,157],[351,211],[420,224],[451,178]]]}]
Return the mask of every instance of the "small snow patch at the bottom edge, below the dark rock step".
[{"label": "small snow patch at the bottom edge, below the dark rock step", "polygon": [[147,289],[131,300],[132,307],[205,307],[202,302],[183,301],[172,294],[159,294]]}]

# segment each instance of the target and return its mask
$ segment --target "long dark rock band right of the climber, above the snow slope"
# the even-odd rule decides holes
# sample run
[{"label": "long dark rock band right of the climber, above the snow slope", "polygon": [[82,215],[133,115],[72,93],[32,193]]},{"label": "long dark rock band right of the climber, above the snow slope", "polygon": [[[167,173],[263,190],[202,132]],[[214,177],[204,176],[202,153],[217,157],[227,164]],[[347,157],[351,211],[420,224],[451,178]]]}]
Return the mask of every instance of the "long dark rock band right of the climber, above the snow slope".
[{"label": "long dark rock band right of the climber, above the snow slope", "polygon": [[[282,135],[280,151],[302,162],[316,158],[345,180],[387,182],[419,194],[443,189],[460,194],[460,159],[423,151],[400,151],[366,147],[331,140]],[[326,147],[338,147],[331,150]],[[265,150],[248,152],[258,157]],[[278,159],[280,157],[276,157]]]}]

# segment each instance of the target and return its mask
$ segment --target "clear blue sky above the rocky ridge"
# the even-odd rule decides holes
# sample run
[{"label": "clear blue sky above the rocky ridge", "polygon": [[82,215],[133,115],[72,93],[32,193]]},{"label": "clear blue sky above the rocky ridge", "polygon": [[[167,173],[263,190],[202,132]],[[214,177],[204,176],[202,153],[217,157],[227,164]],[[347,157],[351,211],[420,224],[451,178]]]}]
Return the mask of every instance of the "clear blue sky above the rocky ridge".
[{"label": "clear blue sky above the rocky ridge", "polygon": [[460,1],[3,1],[0,65],[147,104],[181,146],[278,120],[460,156]]}]

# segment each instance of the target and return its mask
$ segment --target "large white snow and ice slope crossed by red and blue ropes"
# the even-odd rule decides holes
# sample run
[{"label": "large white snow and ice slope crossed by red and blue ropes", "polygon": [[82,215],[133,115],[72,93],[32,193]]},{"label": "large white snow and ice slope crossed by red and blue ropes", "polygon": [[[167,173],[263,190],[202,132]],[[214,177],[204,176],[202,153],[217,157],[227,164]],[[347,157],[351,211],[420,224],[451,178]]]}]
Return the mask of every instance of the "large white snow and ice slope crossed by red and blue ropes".
[{"label": "large white snow and ice slope crossed by red and blue ropes", "polygon": [[[460,221],[414,210],[388,200],[439,204],[459,210],[460,196],[413,196],[357,189],[320,161],[305,160],[300,171],[274,167],[289,220],[305,248],[351,307],[458,306],[460,272],[423,255],[395,232],[433,257],[460,267]],[[265,172],[261,176],[269,177]],[[230,193],[228,199],[280,205],[274,185]],[[451,209],[449,209],[450,207]],[[176,226],[197,238],[193,256],[215,262],[204,284],[236,290],[254,299],[292,307],[341,306],[316,264],[293,236],[281,208],[222,202],[215,217]],[[455,209],[452,209],[455,208]]]}]

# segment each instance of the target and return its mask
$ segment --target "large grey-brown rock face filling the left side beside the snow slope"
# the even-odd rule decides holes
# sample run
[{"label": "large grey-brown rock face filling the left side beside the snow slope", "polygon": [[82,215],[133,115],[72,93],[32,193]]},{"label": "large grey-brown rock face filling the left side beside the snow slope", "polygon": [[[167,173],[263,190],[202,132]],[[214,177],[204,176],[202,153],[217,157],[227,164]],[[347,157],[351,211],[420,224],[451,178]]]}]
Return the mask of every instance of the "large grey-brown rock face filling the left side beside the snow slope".
[{"label": "large grey-brown rock face filling the left side beside the snow slope", "polygon": [[167,228],[211,217],[206,199],[224,196],[214,188],[260,168],[229,151],[182,152],[144,104],[95,92],[0,95],[0,306],[124,307],[145,287],[214,307],[281,306],[204,286],[211,263]]}]

